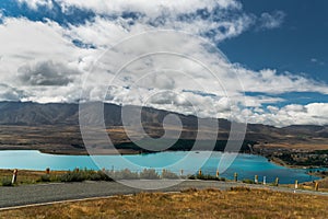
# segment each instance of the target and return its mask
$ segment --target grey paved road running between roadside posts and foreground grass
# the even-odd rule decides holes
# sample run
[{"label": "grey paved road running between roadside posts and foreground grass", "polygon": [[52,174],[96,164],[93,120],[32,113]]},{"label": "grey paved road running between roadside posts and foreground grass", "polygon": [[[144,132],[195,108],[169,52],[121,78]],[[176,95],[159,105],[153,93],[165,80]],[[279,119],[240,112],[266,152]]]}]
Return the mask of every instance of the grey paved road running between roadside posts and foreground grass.
[{"label": "grey paved road running between roadside posts and foreground grass", "polygon": [[[140,181],[144,185],[149,181]],[[162,192],[179,192],[181,189],[208,188],[214,187],[222,191],[230,189],[231,187],[245,185],[242,183],[233,182],[212,182],[212,181],[185,181],[178,185],[159,189]],[[248,187],[266,187],[262,185],[245,185]],[[268,186],[269,187],[269,186]],[[292,192],[294,189],[285,187],[269,187],[270,189],[280,192]],[[83,182],[83,183],[58,183],[58,184],[35,184],[35,185],[21,185],[16,187],[0,187],[0,210],[1,208],[24,206],[31,204],[43,204],[60,200],[72,200],[90,197],[105,197],[113,195],[134,194],[141,192],[140,189],[125,186],[116,182]],[[145,191],[147,192],[147,191]],[[311,192],[311,191],[296,191],[296,193],[328,195],[328,193]]]}]

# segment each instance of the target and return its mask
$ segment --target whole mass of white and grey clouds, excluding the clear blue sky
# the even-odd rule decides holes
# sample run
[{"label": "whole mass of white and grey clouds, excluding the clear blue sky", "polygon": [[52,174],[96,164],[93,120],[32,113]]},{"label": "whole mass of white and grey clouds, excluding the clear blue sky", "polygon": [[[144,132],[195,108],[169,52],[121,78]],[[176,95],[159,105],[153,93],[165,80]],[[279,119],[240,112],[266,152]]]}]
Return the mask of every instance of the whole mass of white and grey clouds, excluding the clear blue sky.
[{"label": "whole mass of white and grey clouds, excluding the clear blue sky", "polygon": [[[19,2],[38,10],[39,7],[51,9],[55,1]],[[95,16],[66,26],[47,19],[34,22],[3,18],[0,80],[5,85],[0,85],[0,100],[75,102],[81,99],[84,81],[85,100],[105,97],[110,103],[147,105],[201,117],[244,120],[248,116],[251,123],[276,126],[328,124],[324,103],[277,107],[274,104],[284,100],[270,96],[308,91],[328,94],[327,84],[301,74],[274,69],[254,71],[230,64],[219,49],[204,43],[216,44],[236,37],[255,24],[260,28],[279,27],[285,16],[281,11],[255,18],[244,12],[236,0],[56,0],[56,3],[63,13],[70,13],[75,7],[93,11]],[[176,30],[189,35],[156,35],[159,30]],[[147,31],[155,34],[107,50]],[[181,56],[138,56],[140,59],[118,74],[108,70],[118,70],[138,54],[151,50],[178,51]],[[92,76],[89,74],[91,69],[96,69]],[[244,92],[261,95],[244,96]]]}]

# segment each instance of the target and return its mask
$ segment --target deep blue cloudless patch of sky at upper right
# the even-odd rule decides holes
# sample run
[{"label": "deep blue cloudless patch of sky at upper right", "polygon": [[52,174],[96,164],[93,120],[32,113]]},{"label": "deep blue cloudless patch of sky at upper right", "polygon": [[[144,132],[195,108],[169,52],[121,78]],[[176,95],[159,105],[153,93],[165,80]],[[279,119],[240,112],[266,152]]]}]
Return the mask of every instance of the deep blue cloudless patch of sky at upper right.
[{"label": "deep blue cloudless patch of sky at upper right", "polygon": [[[220,48],[232,61],[251,69],[276,68],[279,71],[304,72],[328,81],[328,2],[307,0],[242,1],[254,14],[283,11],[286,15],[279,28],[270,32],[247,31],[226,41]],[[251,51],[253,56],[247,54]]]}]

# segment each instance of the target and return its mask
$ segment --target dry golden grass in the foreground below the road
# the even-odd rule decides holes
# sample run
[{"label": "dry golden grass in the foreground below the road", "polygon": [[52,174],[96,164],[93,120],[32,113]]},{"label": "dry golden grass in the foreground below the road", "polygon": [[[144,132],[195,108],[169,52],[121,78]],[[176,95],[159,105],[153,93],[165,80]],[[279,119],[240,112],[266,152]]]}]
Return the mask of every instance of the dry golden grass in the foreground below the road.
[{"label": "dry golden grass in the foreground below the road", "polygon": [[265,189],[188,189],[0,211],[0,218],[328,218],[327,203]]}]

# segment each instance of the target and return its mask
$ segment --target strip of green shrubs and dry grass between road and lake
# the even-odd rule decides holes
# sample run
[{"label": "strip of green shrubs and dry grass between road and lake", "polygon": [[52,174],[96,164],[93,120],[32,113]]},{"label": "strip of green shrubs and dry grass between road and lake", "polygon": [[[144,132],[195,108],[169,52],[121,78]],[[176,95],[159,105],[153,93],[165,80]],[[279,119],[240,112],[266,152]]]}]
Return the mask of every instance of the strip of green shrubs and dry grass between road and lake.
[{"label": "strip of green shrubs and dry grass between road and lake", "polygon": [[[0,185],[2,186],[15,186],[21,184],[35,184],[35,183],[68,183],[68,182],[84,182],[84,181],[119,181],[119,180],[201,180],[201,181],[222,181],[225,182],[225,177],[220,177],[219,172],[216,175],[204,174],[199,170],[198,174],[192,175],[181,175],[171,172],[168,170],[162,170],[161,173],[156,172],[154,169],[144,169],[141,172],[132,172],[128,169],[120,171],[94,171],[94,170],[80,170],[75,169],[73,171],[50,171],[46,169],[45,172],[42,171],[17,171],[11,170],[0,170]],[[14,177],[13,177],[14,173]],[[237,173],[234,174],[234,182],[243,182],[245,184],[258,184],[263,185],[262,182],[256,180],[242,178],[238,180]],[[14,181],[13,181],[14,180]],[[297,181],[296,181],[297,182]],[[267,182],[267,185],[278,186],[279,177],[276,182]],[[295,185],[288,185],[294,187]],[[315,191],[328,191],[328,178],[324,178],[318,182],[308,183],[297,183],[298,189],[315,189]]]}]

